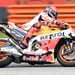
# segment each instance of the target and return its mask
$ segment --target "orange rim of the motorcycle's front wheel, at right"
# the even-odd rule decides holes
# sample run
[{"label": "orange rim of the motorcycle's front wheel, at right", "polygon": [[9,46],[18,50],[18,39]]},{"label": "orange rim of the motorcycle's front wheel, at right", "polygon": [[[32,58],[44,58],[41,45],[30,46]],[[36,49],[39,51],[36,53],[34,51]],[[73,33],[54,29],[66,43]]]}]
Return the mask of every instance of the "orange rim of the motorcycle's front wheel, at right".
[{"label": "orange rim of the motorcycle's front wheel, at right", "polygon": [[70,48],[69,45],[63,45],[61,47],[59,55],[60,55],[60,58],[63,60],[63,62],[65,62],[65,63],[73,63],[73,62],[75,62],[75,61],[73,61],[75,59],[75,57],[72,58],[72,53],[64,54],[65,49],[67,50],[68,48]]}]

